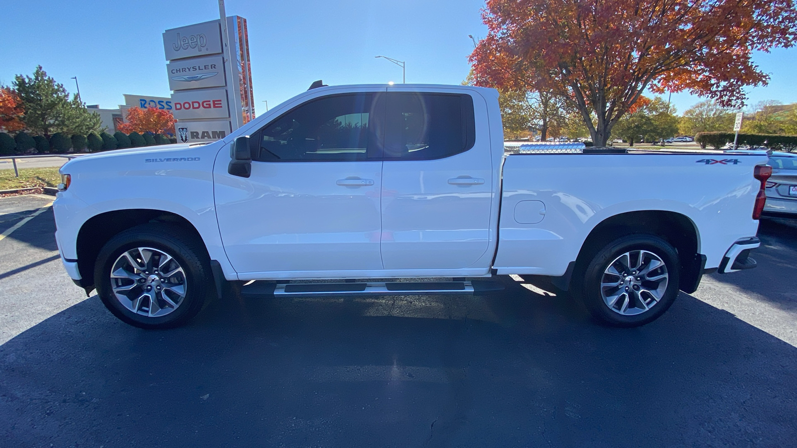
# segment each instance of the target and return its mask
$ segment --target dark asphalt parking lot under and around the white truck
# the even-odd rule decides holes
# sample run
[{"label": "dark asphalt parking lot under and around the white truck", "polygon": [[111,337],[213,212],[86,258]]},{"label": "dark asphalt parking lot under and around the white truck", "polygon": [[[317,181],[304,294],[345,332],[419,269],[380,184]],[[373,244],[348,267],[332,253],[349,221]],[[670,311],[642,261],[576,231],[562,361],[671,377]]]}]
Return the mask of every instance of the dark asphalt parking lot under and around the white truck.
[{"label": "dark asphalt parking lot under and around the white truck", "polygon": [[[52,198],[0,198],[0,233]],[[795,446],[797,224],[642,328],[487,297],[214,301],[144,331],[0,240],[0,446]],[[530,288],[530,286],[529,286]],[[533,288],[532,288],[533,289]]]}]

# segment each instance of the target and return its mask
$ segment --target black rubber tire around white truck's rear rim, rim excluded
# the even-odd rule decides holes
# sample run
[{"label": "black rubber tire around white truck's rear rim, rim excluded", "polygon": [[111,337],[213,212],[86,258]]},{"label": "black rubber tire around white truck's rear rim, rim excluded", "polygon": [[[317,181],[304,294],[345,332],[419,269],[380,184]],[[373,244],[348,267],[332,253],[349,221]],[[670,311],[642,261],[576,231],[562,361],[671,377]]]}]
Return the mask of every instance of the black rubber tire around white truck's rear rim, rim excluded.
[{"label": "black rubber tire around white truck's rear rim, rim excluded", "polygon": [[[650,308],[646,311],[639,312],[640,309],[647,306],[640,304],[632,310],[633,312],[639,312],[638,314],[631,316],[624,315],[620,311],[610,308],[603,299],[602,281],[607,278],[614,278],[611,277],[611,274],[608,274],[610,277],[604,277],[604,272],[609,269],[609,266],[615,259],[622,256],[624,253],[634,253],[634,251],[642,250],[653,253],[664,262],[666,273],[669,278],[667,279],[664,292],[660,294],[661,299],[659,301],[654,305],[650,305]],[[636,263],[633,262],[630,264]],[[576,293],[578,297],[581,297],[584,305],[589,309],[592,316],[595,316],[595,318],[602,323],[614,327],[638,327],[658,319],[659,316],[662,316],[662,314],[667,311],[670,305],[673,305],[673,301],[675,301],[675,297],[677,297],[679,290],[679,269],[680,263],[678,262],[678,254],[668,242],[651,234],[631,234],[618,238],[595,252],[595,255],[581,271],[581,274],[574,279],[574,293]],[[660,275],[664,271],[654,269],[654,271],[651,272]],[[616,277],[618,277],[619,281],[624,280],[623,276]],[[656,275],[652,277],[656,277]],[[638,286],[640,288],[646,288],[648,287],[647,285],[650,285],[650,283]],[[643,300],[646,301],[651,301],[653,297],[652,294],[649,295],[648,293],[635,294],[633,285],[631,286],[631,290],[626,288],[626,286],[620,285],[616,288],[617,289],[614,289],[615,291],[619,291],[619,289],[629,291],[631,295],[630,302],[632,303],[640,303],[639,297],[643,297]],[[611,292],[613,289],[607,289],[607,291]],[[622,291],[619,292],[622,293]],[[607,300],[611,301],[611,295]],[[652,303],[652,301],[650,303]]]}]

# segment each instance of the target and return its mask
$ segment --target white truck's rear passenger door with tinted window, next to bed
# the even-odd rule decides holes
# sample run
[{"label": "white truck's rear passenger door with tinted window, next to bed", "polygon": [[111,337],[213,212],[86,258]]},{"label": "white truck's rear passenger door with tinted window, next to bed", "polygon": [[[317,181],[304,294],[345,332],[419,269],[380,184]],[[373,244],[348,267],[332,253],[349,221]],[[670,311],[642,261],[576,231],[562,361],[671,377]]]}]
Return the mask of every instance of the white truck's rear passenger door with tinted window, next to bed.
[{"label": "white truck's rear passenger door with tinted window, next to bed", "polygon": [[[461,269],[485,255],[493,192],[484,100],[389,88],[382,167],[385,269]],[[479,132],[477,132],[477,129]]]}]

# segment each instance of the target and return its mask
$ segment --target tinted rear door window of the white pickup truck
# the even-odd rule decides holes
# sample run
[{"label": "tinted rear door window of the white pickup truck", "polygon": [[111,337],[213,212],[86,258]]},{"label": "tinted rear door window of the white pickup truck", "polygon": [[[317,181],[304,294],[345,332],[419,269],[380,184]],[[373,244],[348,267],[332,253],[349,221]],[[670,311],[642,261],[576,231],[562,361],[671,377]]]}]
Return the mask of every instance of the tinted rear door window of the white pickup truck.
[{"label": "tinted rear door window of the white pickup truck", "polygon": [[429,160],[473,147],[476,129],[469,95],[389,92],[384,158]]}]

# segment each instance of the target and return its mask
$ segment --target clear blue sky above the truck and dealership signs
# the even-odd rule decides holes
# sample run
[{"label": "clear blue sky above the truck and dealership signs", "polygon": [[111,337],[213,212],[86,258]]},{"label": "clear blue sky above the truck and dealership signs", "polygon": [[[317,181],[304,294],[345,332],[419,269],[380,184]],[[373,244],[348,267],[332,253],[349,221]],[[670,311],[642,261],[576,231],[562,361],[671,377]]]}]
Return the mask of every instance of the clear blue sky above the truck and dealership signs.
[{"label": "clear blue sky above the truck and dealership signs", "polygon": [[[80,81],[88,104],[123,102],[123,93],[169,96],[163,56],[165,29],[218,18],[213,0],[8,2],[0,45],[0,84],[41,64],[74,92]],[[253,90],[258,115],[308,88],[327,84],[401,81],[401,68],[376,55],[406,61],[406,81],[458,84],[473,50],[468,34],[483,37],[482,0],[339,0],[258,2],[227,0],[227,15],[249,26]],[[8,38],[13,37],[13,38]],[[14,43],[10,43],[14,42]],[[797,102],[797,49],[754,58],[771,83],[753,88],[759,100]],[[683,112],[700,98],[673,94]]]}]

